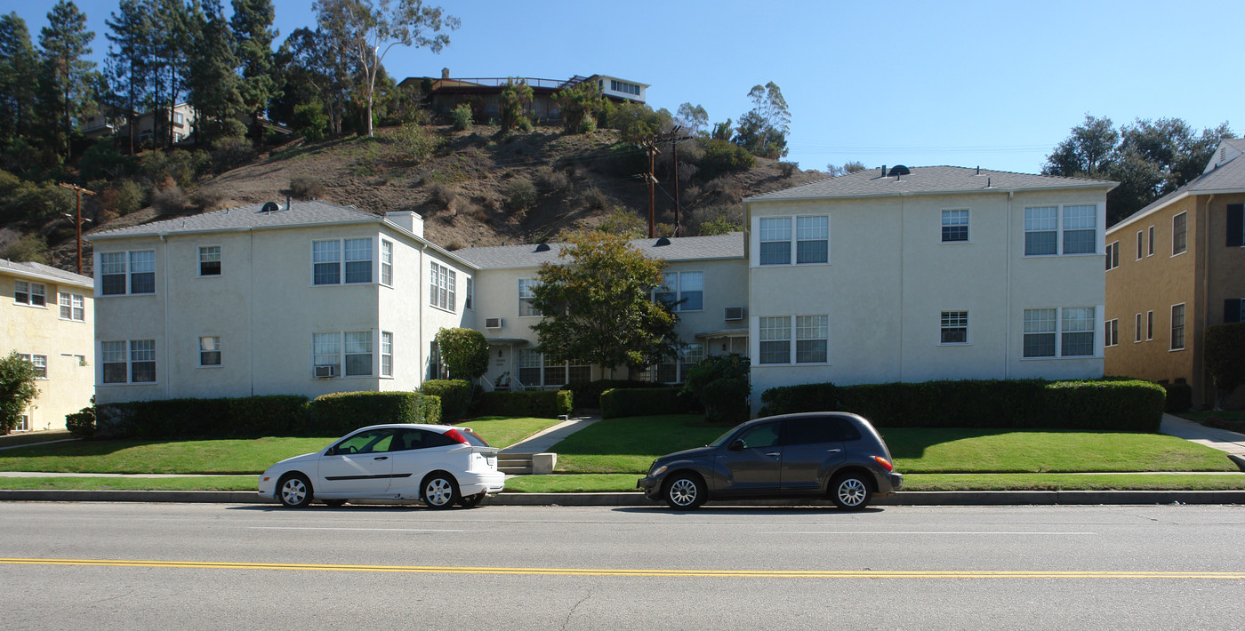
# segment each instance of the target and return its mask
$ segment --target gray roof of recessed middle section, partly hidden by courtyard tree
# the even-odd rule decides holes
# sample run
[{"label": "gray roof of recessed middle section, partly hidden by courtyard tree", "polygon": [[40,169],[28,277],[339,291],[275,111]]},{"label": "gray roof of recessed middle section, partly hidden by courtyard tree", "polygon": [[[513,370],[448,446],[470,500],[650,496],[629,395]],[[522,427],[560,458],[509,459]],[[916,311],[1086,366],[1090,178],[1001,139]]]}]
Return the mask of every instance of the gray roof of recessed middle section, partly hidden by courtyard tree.
[{"label": "gray roof of recessed middle section, partly hidden by courtyard tree", "polygon": [[[742,259],[743,233],[713,236],[676,236],[669,245],[656,245],[656,239],[634,239],[632,245],[644,254],[666,261]],[[537,268],[542,263],[559,263],[558,253],[564,244],[550,243],[549,249],[537,251],[535,244],[498,245],[493,248],[463,248],[453,254],[479,269]]]}]

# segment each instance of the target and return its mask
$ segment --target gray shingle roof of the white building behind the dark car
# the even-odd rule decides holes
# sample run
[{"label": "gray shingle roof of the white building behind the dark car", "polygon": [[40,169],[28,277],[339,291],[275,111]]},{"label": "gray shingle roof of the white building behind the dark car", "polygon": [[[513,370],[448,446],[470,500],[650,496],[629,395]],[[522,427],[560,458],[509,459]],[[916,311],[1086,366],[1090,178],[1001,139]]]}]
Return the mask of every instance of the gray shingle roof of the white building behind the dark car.
[{"label": "gray shingle roof of the white building behind the dark car", "polygon": [[[793,199],[888,197],[939,193],[981,193],[987,190],[1025,190],[1058,188],[1113,188],[1116,182],[1103,179],[1033,175],[1007,171],[970,169],[964,167],[913,167],[910,173],[883,177],[881,169],[865,169],[837,178],[822,179],[801,187],[774,190],[745,202],[782,202]],[[989,184],[990,188],[986,188]]]}]

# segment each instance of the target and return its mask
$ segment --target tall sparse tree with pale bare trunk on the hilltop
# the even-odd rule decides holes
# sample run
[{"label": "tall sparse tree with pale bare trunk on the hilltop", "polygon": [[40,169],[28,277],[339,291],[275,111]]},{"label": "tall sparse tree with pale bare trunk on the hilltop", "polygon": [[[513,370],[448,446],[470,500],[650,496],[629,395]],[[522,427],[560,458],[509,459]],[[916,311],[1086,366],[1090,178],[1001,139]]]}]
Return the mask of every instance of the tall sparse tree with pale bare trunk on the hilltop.
[{"label": "tall sparse tree with pale bare trunk on the hilltop", "polygon": [[397,45],[427,47],[441,52],[449,44],[442,29],[456,30],[459,20],[442,15],[439,6],[425,6],[422,0],[316,0],[314,5],[327,41],[342,56],[350,57],[362,75],[360,87],[366,102],[364,129],[372,136],[372,101],[376,75],[385,55]]}]

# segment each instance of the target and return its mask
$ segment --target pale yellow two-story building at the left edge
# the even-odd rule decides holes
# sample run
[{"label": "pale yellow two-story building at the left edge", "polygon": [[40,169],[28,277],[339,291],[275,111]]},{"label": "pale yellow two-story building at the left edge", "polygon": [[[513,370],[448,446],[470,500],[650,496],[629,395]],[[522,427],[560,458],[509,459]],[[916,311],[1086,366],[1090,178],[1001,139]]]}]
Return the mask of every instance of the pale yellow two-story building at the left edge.
[{"label": "pale yellow two-story building at the left edge", "polygon": [[95,393],[93,284],[88,276],[39,263],[0,259],[0,353],[35,365],[39,397],[17,431],[63,429],[65,414]]}]

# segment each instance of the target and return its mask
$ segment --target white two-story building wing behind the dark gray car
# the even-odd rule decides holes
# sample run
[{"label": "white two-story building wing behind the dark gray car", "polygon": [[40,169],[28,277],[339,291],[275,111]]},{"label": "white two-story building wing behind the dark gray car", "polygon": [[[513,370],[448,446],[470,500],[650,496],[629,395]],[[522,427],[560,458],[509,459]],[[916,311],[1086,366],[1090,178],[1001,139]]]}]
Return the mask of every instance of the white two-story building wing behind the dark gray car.
[{"label": "white two-story building wing behind the dark gray car", "polygon": [[894,167],[746,199],[753,412],[779,385],[1101,377],[1114,185]]}]

